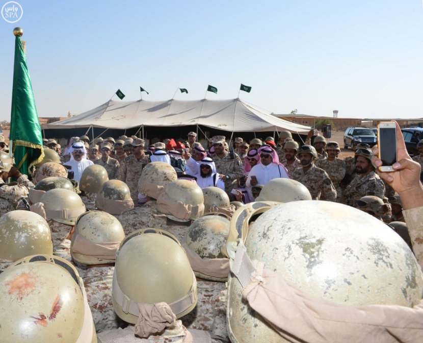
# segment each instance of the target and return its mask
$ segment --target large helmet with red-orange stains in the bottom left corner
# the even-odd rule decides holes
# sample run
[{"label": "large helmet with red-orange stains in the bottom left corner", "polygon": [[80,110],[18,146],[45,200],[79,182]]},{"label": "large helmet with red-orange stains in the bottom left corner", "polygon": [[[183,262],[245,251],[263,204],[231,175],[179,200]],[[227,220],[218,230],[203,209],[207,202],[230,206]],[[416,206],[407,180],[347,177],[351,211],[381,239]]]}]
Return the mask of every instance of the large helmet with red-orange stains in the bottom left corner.
[{"label": "large helmet with red-orange stains in the bottom left corner", "polygon": [[84,284],[53,255],[16,261],[0,274],[2,342],[97,342]]}]

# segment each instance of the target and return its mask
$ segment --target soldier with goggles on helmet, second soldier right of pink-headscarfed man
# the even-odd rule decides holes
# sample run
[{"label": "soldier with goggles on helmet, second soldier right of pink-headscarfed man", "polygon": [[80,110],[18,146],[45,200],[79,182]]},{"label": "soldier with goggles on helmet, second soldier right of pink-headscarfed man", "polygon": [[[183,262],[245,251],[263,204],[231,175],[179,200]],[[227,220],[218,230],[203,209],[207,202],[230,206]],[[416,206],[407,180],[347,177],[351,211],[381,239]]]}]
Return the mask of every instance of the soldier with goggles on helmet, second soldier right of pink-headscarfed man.
[{"label": "soldier with goggles on helmet, second soldier right of pink-headscarfed man", "polygon": [[293,180],[301,182],[310,191],[313,200],[336,200],[336,189],[325,170],[314,165],[313,160],[318,154],[313,146],[303,145],[298,149],[301,168],[297,168],[292,176]]}]

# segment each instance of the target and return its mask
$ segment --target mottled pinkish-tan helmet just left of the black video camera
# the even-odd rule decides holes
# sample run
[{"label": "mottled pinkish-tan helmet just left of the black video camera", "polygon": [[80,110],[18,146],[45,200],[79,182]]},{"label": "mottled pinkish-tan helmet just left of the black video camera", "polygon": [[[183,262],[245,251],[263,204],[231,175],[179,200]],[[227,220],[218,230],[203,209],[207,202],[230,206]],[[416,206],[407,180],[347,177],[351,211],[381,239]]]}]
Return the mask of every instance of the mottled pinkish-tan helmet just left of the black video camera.
[{"label": "mottled pinkish-tan helmet just left of the black video camera", "polygon": [[146,197],[157,199],[165,187],[177,179],[176,170],[169,163],[151,162],[143,168],[138,181],[138,192]]}]

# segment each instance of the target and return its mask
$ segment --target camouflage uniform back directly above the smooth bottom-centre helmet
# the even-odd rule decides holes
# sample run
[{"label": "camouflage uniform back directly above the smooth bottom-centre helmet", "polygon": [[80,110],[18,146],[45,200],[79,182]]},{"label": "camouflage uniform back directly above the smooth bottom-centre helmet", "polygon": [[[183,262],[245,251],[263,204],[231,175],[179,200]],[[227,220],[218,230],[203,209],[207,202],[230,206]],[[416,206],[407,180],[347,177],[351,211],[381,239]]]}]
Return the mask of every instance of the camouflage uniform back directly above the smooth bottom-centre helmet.
[{"label": "camouflage uniform back directly above the smooth bottom-centre helmet", "polygon": [[119,222],[126,236],[139,229],[155,228],[170,232],[179,242],[183,241],[188,228],[185,225],[168,225],[177,224],[177,222],[170,222],[166,214],[157,212],[155,201],[149,201],[142,207],[122,212]]}]

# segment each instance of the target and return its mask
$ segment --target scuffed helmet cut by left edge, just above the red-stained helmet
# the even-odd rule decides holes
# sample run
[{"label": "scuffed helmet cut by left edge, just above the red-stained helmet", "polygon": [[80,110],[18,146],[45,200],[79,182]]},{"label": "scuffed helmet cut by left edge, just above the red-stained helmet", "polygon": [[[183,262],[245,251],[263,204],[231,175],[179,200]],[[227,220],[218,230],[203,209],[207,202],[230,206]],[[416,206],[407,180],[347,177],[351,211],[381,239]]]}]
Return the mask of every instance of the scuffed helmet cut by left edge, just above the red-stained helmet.
[{"label": "scuffed helmet cut by left edge, just above the red-stained helmet", "polygon": [[42,216],[16,210],[0,218],[0,260],[10,262],[35,254],[52,254],[50,228]]}]

